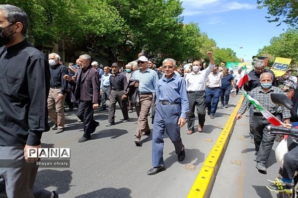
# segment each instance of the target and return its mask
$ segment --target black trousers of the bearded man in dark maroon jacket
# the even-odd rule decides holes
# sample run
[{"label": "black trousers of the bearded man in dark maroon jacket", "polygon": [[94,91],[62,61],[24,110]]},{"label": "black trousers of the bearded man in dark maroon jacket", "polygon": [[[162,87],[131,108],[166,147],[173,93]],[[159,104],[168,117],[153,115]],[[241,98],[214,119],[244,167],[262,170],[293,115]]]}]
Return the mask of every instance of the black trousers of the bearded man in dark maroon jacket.
[{"label": "black trousers of the bearded man in dark maroon jacket", "polygon": [[79,100],[76,116],[84,124],[84,135],[85,138],[91,137],[91,131],[94,131],[95,120],[93,119],[93,103],[92,101]]}]

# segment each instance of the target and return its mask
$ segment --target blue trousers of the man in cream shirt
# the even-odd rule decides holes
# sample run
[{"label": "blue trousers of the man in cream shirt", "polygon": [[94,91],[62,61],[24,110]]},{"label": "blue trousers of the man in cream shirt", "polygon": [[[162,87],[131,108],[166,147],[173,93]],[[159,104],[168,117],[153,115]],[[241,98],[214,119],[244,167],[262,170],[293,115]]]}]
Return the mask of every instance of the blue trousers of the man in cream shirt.
[{"label": "blue trousers of the man in cream shirt", "polygon": [[208,110],[210,111],[210,115],[214,115],[219,104],[221,96],[220,88],[206,88],[206,105]]}]

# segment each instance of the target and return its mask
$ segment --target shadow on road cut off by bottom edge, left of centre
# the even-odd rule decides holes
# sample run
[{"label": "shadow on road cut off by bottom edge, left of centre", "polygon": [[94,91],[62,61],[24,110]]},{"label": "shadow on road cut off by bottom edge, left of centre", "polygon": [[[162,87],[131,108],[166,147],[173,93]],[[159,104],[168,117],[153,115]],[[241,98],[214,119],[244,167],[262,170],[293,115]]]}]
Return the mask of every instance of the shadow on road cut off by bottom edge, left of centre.
[{"label": "shadow on road cut off by bottom edge, left of centre", "polygon": [[76,196],[75,198],[132,198],[132,191],[128,188],[103,188],[91,193]]}]

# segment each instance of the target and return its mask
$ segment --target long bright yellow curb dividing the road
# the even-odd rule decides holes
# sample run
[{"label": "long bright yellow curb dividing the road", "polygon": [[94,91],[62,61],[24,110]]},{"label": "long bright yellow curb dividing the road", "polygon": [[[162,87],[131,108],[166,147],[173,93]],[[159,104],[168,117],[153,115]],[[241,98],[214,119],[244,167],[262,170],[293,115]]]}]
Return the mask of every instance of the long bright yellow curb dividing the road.
[{"label": "long bright yellow curb dividing the road", "polygon": [[224,129],[217,139],[215,145],[211,149],[206,158],[201,171],[199,172],[195,183],[193,184],[187,198],[209,198],[215,183],[218,170],[222,164],[225,150],[228,146],[230,137],[232,136],[234,125],[236,122],[236,114],[240,108],[244,96],[242,95],[237,106],[230,114]]}]

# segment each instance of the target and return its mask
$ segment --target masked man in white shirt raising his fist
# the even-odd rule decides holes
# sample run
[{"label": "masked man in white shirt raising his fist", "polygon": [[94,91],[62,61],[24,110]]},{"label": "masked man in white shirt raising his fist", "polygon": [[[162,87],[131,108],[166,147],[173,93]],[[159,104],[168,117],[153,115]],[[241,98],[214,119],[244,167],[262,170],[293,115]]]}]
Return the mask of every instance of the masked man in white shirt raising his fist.
[{"label": "masked man in white shirt raising his fist", "polygon": [[188,131],[186,132],[188,135],[193,134],[195,132],[194,125],[195,125],[195,107],[197,107],[197,113],[199,117],[199,126],[198,131],[202,132],[204,123],[205,123],[205,115],[206,115],[206,79],[207,76],[213,71],[214,69],[214,59],[212,57],[212,51],[208,51],[207,55],[210,59],[209,66],[200,71],[201,65],[200,61],[195,60],[192,64],[193,72],[189,73],[186,78],[186,90],[187,90],[187,97],[189,101],[189,112],[187,117],[187,128]]}]

